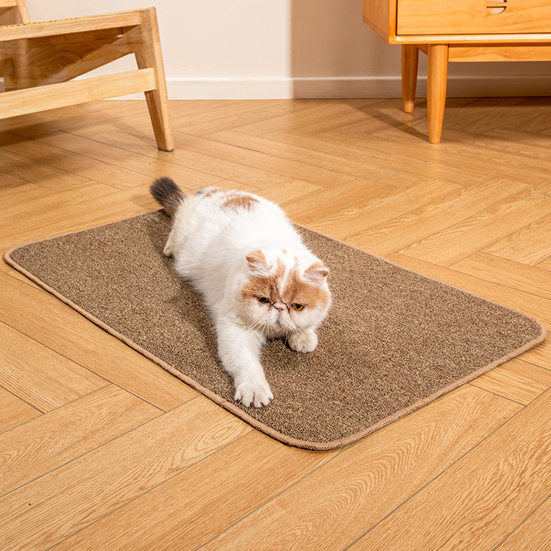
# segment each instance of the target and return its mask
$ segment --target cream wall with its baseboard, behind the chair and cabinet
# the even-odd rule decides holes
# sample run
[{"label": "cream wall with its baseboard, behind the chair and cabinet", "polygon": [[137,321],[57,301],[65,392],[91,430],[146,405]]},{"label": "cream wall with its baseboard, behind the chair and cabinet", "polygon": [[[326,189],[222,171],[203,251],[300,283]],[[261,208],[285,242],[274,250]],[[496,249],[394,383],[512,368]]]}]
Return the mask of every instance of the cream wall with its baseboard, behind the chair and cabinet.
[{"label": "cream wall with its baseboard, behind the chair and cabinet", "polygon": [[[27,0],[33,21],[154,5],[171,98],[400,96],[362,0]],[[129,59],[118,67],[133,67]],[[106,72],[103,70],[102,72]],[[448,95],[551,95],[551,62],[450,64]],[[426,93],[420,59],[418,95]]]}]

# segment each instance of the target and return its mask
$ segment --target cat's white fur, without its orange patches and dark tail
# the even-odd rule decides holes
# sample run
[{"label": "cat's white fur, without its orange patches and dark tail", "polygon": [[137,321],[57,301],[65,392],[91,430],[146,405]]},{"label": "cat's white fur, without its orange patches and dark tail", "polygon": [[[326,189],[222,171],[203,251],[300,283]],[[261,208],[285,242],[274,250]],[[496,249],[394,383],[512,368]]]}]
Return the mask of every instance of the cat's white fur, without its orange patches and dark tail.
[{"label": "cat's white fur, without its orange patches and dark tail", "polygon": [[[207,191],[187,196],[180,204],[165,255],[174,257],[176,272],[205,300],[216,328],[218,355],[233,379],[235,399],[260,407],[273,398],[259,361],[262,344],[267,338],[286,336],[296,351],[312,351],[318,342],[315,330],[329,302],[318,310],[300,312],[282,304],[271,308],[257,301],[246,304],[241,290],[253,271],[247,261],[253,251],[262,250],[269,265],[281,258],[287,271],[297,260],[306,270],[318,259],[273,202],[253,196],[258,202],[250,209],[231,209],[223,206],[225,192]],[[318,285],[329,293],[324,277]]]}]

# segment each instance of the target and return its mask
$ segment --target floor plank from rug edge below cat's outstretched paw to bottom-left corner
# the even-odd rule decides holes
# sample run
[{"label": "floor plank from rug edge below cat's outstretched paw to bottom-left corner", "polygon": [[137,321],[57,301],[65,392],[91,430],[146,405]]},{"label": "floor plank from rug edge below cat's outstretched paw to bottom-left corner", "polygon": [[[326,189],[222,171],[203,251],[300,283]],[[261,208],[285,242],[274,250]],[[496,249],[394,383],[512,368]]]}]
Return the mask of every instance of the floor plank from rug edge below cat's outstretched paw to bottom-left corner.
[{"label": "floor plank from rug edge below cat's outstretched paw to bottom-left corner", "polygon": [[191,400],[0,498],[3,545],[48,549],[251,430]]}]

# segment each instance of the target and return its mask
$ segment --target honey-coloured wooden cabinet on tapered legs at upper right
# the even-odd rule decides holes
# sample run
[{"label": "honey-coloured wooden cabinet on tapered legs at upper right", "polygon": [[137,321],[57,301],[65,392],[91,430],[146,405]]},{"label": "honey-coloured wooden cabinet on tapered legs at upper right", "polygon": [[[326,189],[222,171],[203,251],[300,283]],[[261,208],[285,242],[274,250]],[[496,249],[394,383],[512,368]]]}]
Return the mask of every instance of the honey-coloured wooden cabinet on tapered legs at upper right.
[{"label": "honey-coloured wooden cabinet on tapered legs at upper right", "polygon": [[551,0],[364,0],[364,21],[388,43],[402,45],[408,113],[419,51],[428,54],[431,143],[441,137],[448,62],[551,60]]}]

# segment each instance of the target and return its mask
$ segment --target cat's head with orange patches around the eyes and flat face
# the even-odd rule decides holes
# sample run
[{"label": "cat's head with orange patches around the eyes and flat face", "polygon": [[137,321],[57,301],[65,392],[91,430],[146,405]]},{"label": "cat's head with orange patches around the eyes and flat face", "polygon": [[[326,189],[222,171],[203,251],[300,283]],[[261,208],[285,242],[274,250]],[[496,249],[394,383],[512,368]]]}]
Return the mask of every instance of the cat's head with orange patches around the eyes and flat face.
[{"label": "cat's head with orange patches around the eyes and flat face", "polygon": [[284,249],[247,255],[240,293],[247,322],[273,337],[317,327],[331,304],[328,274],[313,255],[298,258]]}]

